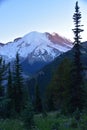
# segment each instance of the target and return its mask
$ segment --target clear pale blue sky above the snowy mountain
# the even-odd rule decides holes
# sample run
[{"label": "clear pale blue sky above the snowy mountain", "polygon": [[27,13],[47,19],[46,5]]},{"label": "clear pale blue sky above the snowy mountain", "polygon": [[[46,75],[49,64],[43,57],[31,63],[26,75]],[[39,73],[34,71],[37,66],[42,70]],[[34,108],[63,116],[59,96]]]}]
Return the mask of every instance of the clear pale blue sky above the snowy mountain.
[{"label": "clear pale blue sky above the snowy mountain", "polygon": [[[87,41],[87,0],[78,0]],[[73,41],[76,0],[0,0],[0,42],[13,41],[31,31],[56,32]]]}]

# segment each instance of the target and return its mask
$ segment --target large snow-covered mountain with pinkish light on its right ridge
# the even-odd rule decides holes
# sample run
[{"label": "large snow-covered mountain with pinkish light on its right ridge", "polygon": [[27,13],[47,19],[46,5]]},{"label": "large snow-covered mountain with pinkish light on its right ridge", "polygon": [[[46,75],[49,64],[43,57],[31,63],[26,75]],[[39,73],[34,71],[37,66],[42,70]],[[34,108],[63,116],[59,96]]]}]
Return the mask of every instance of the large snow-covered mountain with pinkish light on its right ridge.
[{"label": "large snow-covered mountain with pinkish light on its right ridge", "polygon": [[13,42],[0,44],[0,55],[9,62],[15,59],[18,52],[22,63],[33,66],[33,70],[37,68],[36,71],[71,48],[71,41],[57,33],[30,32]]}]

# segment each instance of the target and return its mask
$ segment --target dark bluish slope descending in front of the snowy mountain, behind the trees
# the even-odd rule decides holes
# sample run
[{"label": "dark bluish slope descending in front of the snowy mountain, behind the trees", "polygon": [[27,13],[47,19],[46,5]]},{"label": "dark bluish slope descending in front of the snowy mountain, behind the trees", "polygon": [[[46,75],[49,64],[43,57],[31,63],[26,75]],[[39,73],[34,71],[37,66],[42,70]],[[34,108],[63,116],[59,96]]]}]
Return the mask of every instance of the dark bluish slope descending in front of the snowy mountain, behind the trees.
[{"label": "dark bluish slope descending in front of the snowy mountain, behind the trees", "polygon": [[[38,72],[36,77],[33,77],[32,80],[30,81],[31,88],[34,87],[34,78],[37,79],[38,84],[41,88],[42,93],[45,91],[47,86],[49,85],[51,79],[53,78],[54,72],[56,72],[56,69],[58,68],[59,64],[64,58],[68,58],[70,60],[73,60],[73,51],[74,48],[72,48],[70,51],[61,54],[59,57],[57,57],[54,61],[46,65],[42,70]],[[87,42],[82,43],[81,47],[81,53],[82,53],[82,63],[84,66],[87,67]],[[33,81],[33,82],[32,82]]]}]

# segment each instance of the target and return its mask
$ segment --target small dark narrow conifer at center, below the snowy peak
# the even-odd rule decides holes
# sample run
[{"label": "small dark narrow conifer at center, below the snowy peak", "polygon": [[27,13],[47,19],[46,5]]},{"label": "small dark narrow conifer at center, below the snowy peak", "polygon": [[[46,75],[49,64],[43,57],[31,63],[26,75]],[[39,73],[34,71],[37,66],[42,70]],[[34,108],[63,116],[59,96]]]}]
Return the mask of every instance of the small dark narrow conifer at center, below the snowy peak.
[{"label": "small dark narrow conifer at center, below the snowy peak", "polygon": [[42,112],[42,100],[41,100],[41,96],[40,96],[40,89],[39,86],[36,85],[35,88],[35,111],[37,113]]}]

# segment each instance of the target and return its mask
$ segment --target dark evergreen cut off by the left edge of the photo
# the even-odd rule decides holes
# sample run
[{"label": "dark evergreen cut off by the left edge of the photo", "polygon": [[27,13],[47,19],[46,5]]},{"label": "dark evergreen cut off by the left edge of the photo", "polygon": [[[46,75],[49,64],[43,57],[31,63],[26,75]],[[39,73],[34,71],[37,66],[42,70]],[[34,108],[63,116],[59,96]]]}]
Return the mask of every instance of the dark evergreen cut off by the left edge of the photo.
[{"label": "dark evergreen cut off by the left edge of the photo", "polygon": [[5,61],[0,57],[0,117],[6,118],[7,117],[7,106],[9,100],[6,98],[6,85],[5,80],[7,80],[7,65],[5,64]]}]

